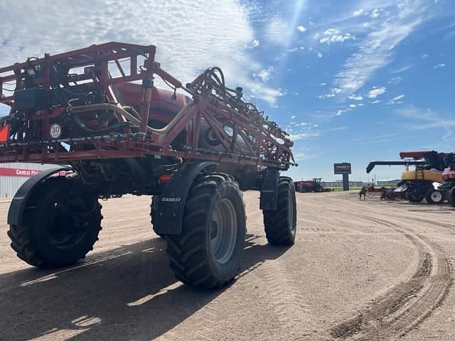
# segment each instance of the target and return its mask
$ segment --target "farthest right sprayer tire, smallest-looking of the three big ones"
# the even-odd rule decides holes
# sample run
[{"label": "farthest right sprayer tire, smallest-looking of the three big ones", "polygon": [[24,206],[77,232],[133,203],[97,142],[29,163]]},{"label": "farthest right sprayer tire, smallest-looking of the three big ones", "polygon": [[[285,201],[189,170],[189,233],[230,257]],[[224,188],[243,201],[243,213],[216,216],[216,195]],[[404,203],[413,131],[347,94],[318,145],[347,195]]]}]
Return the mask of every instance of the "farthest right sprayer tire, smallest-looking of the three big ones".
[{"label": "farthest right sprayer tire, smallest-looking of the three big ones", "polygon": [[277,210],[263,210],[267,241],[291,245],[296,238],[296,192],[289,178],[279,178]]}]

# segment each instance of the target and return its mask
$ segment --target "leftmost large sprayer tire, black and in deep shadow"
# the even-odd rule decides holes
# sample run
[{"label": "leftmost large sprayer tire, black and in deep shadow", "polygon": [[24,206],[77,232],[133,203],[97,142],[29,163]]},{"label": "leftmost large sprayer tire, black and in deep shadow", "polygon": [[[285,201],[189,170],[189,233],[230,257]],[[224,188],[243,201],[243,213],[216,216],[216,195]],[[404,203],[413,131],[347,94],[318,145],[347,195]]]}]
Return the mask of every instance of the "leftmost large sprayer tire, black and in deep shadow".
[{"label": "leftmost large sprayer tire, black and in deep shadow", "polygon": [[17,256],[28,264],[55,268],[74,264],[93,249],[101,229],[97,195],[80,193],[79,180],[48,178],[31,193],[21,224],[8,235]]}]

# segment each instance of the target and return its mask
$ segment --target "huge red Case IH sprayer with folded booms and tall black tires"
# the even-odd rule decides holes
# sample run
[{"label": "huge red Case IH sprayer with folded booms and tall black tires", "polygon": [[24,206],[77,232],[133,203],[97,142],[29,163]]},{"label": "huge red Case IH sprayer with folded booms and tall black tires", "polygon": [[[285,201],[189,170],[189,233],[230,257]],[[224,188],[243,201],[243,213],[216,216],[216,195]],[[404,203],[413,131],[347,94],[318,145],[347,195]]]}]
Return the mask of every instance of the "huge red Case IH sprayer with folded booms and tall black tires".
[{"label": "huge red Case IH sprayer with folded booms and tall black tires", "polygon": [[0,68],[0,103],[11,107],[0,162],[62,165],[30,178],[11,202],[8,234],[23,261],[84,258],[101,229],[98,199],[126,193],[154,196],[154,229],[176,277],[192,286],[216,288],[237,274],[241,190],[261,191],[269,243],[294,242],[294,183],[279,176],[294,165],[287,133],[240,87],[226,87],[218,67],[183,87],[155,50],[105,43]]}]

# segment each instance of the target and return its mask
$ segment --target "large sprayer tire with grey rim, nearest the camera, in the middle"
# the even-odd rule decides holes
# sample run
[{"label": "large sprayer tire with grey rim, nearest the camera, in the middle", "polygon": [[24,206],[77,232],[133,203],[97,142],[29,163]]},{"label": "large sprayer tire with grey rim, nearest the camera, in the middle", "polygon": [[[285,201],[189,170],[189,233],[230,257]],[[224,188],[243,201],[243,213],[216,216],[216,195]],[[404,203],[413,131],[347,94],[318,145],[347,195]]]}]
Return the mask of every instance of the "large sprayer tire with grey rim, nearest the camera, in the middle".
[{"label": "large sprayer tire with grey rim, nearest the camera, in the middle", "polygon": [[167,234],[176,278],[197,288],[220,288],[240,269],[245,204],[238,184],[223,173],[198,175],[188,193],[181,234]]}]

